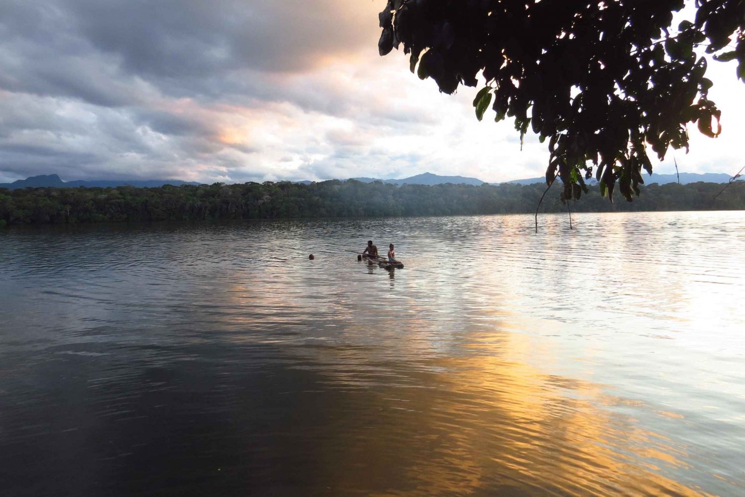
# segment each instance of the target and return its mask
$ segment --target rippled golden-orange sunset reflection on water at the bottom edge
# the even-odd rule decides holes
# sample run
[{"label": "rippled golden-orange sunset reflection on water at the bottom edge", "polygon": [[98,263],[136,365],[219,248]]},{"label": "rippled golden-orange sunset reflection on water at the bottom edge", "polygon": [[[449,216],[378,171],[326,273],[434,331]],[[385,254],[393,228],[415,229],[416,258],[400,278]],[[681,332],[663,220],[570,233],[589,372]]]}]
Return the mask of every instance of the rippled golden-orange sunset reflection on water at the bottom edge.
[{"label": "rippled golden-orange sunset reflection on water at the bottom edge", "polygon": [[[422,389],[402,399],[390,428],[410,433],[397,459],[416,487],[375,495],[702,495],[656,473],[682,466],[665,440],[603,406],[624,403],[587,382],[547,376],[505,355],[532,346],[524,335],[481,335],[478,355],[428,366]],[[382,428],[386,430],[385,427]],[[386,460],[367,452],[370,460]],[[426,451],[429,457],[422,457]]]}]

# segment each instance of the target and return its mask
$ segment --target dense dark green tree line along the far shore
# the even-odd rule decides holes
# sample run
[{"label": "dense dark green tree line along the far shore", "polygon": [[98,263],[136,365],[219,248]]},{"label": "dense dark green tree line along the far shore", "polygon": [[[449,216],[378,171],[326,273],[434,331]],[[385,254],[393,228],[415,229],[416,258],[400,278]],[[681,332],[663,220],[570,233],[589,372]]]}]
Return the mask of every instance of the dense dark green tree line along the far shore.
[{"label": "dense dark green tree line along the far shore", "polygon": [[[561,186],[546,194],[539,212],[566,212]],[[443,184],[396,186],[376,181],[243,183],[159,188],[0,189],[0,227],[13,224],[203,221],[218,219],[335,218],[400,215],[475,215],[536,212],[542,183],[493,186]],[[723,192],[722,189],[724,189]],[[720,194],[721,192],[721,194]],[[717,197],[717,194],[719,196]],[[714,197],[717,197],[716,199]],[[633,202],[603,198],[597,186],[572,212],[745,209],[745,182],[641,187]]]}]

